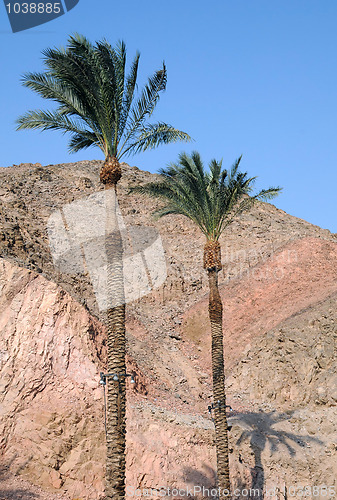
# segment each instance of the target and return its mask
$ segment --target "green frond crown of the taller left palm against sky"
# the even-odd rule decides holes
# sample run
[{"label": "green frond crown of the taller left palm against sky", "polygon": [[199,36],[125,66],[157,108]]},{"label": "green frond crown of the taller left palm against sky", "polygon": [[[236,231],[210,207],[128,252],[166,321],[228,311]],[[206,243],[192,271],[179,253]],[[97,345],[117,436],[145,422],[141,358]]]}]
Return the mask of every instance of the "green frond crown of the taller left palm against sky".
[{"label": "green frond crown of the taller left palm against sky", "polygon": [[99,147],[119,160],[160,144],[190,140],[188,134],[163,122],[148,124],[159,94],[166,87],[162,69],[136,96],[139,53],[126,74],[126,48],[106,41],[92,45],[84,36],[69,38],[66,49],[43,51],[47,70],[27,73],[23,85],[58,104],[54,111],[28,111],[18,129],[61,130],[71,134],[70,152]]}]

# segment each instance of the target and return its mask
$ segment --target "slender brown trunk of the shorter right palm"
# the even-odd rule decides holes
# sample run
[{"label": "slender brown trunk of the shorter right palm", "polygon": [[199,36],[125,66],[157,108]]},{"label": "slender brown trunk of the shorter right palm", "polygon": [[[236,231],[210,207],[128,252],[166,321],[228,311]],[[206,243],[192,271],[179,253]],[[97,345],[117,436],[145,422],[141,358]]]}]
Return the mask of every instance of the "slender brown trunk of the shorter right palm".
[{"label": "slender brown trunk of the shorter right palm", "polygon": [[[230,492],[228,425],[223,355],[222,302],[218,288],[218,271],[208,270],[209,318],[212,334],[212,373],[215,443],[217,456],[218,488]],[[227,497],[228,498],[228,497]]]}]

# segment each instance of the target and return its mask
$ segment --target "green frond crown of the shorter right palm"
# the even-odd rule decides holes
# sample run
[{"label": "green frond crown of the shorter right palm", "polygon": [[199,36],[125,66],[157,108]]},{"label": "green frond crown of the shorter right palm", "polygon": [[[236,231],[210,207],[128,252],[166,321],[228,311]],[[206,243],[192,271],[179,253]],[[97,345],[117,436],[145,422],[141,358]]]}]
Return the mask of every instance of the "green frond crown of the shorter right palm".
[{"label": "green frond crown of the shorter right palm", "polygon": [[212,160],[206,172],[199,153],[193,152],[191,156],[182,153],[177,164],[160,170],[161,181],[134,189],[166,201],[155,212],[158,217],[185,215],[197,224],[208,241],[218,241],[235,216],[254,201],[271,199],[280,191],[279,187],[271,187],[247,196],[256,177],[239,172],[240,161],[241,157],[231,170],[225,170],[222,161]]}]

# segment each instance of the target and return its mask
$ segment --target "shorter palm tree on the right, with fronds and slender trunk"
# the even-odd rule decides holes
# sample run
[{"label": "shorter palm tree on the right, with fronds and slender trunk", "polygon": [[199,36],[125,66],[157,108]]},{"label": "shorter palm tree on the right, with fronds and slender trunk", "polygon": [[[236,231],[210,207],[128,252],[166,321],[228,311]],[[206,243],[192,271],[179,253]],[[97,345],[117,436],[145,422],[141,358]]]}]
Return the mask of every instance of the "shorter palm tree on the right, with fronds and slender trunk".
[{"label": "shorter palm tree on the right, with fronds and slender trunk", "polygon": [[180,214],[192,220],[205,235],[203,266],[209,280],[209,318],[212,336],[212,378],[218,487],[230,492],[228,426],[223,352],[222,301],[218,273],[222,269],[219,238],[235,218],[257,200],[276,196],[271,187],[252,194],[255,177],[239,171],[241,157],[231,170],[212,160],[206,171],[197,152],[183,153],[179,162],[160,170],[161,179],[132,189],[164,200],[157,217]]}]

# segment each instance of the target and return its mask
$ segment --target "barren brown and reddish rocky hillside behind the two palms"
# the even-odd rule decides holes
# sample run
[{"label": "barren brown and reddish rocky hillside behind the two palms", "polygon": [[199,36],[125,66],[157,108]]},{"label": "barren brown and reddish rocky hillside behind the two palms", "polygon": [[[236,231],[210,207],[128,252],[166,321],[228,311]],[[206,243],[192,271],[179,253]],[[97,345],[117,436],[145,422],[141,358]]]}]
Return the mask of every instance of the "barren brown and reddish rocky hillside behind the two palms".
[{"label": "barren brown and reddish rocky hillside behind the two palms", "polygon": [[[54,210],[102,190],[100,164],[0,171],[0,498],[98,499],[103,490],[104,317],[88,276],[54,269],[46,231]],[[151,177],[124,165],[119,187],[125,223],[159,230],[168,273],[163,286],[128,305],[128,363],[137,374],[129,388],[128,485],[211,486],[203,237],[182,217],[155,221],[155,202],[127,195]],[[237,487],[337,490],[336,242],[265,203],[223,236]]]}]

